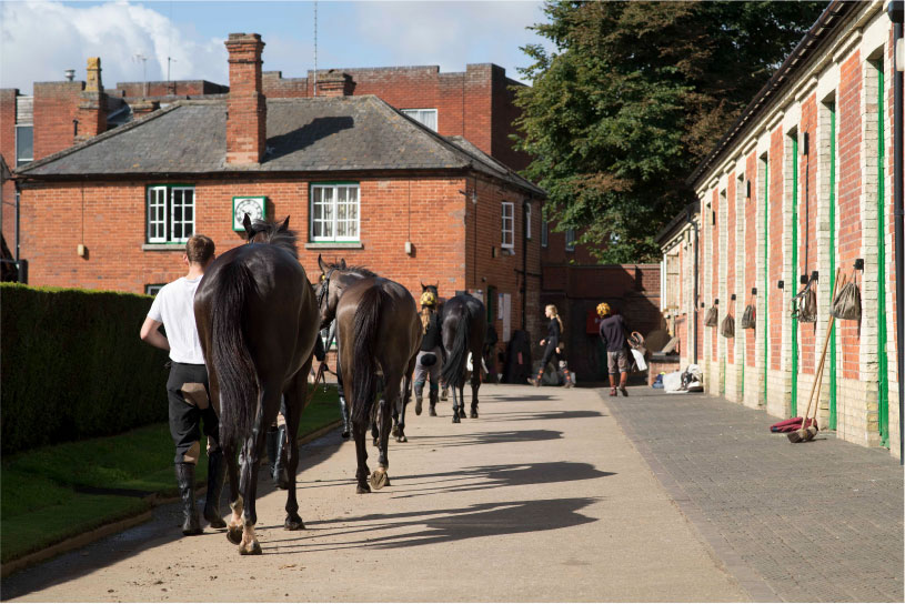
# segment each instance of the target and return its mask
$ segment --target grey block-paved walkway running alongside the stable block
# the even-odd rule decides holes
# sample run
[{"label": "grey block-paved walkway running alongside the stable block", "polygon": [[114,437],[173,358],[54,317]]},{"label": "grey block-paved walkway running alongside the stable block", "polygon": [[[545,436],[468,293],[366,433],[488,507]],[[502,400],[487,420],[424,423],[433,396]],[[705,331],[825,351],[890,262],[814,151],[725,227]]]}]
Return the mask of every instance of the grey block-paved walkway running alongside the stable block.
[{"label": "grey block-paved walkway running alongside the stable block", "polygon": [[758,601],[902,602],[903,469],[832,434],[704,394],[601,391],[727,568]]}]

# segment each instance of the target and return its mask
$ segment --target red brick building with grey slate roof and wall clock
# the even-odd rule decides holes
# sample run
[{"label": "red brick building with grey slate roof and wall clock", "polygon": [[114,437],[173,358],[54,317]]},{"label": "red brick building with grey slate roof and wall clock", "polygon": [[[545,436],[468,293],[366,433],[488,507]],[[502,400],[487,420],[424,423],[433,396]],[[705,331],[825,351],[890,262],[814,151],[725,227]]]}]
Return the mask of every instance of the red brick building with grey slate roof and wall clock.
[{"label": "red brick building with grey slate roof and wall clock", "polygon": [[309,274],[319,254],[344,258],[413,293],[422,281],[441,296],[475,292],[501,341],[536,332],[543,191],[462,137],[344,94],[344,76],[322,79],[318,97],[267,98],[263,46],[230,36],[228,94],[174,102],[18,169],[30,282],[151,292],[184,272],[189,234],[239,245],[234,212],[263,204],[292,217]]}]

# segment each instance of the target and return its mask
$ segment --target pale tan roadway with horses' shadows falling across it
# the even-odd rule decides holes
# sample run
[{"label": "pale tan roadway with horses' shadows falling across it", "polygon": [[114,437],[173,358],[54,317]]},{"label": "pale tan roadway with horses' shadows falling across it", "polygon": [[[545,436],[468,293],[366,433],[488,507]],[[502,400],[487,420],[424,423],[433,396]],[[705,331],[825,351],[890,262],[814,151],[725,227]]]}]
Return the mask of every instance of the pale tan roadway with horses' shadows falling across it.
[{"label": "pale tan roadway with horses' shadows falling across it", "polygon": [[594,390],[485,384],[480,419],[454,425],[450,403],[439,412],[410,407],[409,442],[391,442],[392,485],[368,495],[355,494],[354,444],[332,433],[303,446],[306,530],[282,530],[285,493],[262,482],[264,555],[240,556],[207,527],[183,537],[167,505],[3,580],[2,600],[750,600]]}]

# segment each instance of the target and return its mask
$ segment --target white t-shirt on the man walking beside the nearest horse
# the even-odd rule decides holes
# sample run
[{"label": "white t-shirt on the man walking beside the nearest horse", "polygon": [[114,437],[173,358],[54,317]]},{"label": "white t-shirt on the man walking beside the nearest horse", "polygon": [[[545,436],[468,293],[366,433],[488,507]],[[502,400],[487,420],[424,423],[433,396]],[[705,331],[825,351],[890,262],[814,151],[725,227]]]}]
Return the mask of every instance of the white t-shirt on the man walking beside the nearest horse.
[{"label": "white t-shirt on the man walking beside the nearest horse", "polygon": [[191,280],[181,276],[163,285],[148,311],[148,316],[163,323],[170,359],[177,363],[204,363],[194,323],[194,292],[200,282],[200,276]]}]

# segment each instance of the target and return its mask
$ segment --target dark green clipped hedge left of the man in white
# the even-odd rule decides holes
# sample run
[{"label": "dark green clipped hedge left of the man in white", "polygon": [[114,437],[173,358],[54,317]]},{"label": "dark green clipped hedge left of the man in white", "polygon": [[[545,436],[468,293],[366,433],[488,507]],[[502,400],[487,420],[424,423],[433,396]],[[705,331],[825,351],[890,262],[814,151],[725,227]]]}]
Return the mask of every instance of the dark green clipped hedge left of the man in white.
[{"label": "dark green clipped hedge left of the man in white", "polygon": [[4,454],[167,420],[167,353],[139,339],[151,301],[0,284]]}]

